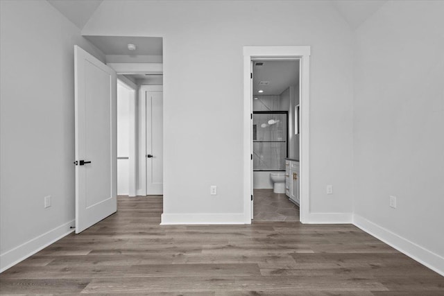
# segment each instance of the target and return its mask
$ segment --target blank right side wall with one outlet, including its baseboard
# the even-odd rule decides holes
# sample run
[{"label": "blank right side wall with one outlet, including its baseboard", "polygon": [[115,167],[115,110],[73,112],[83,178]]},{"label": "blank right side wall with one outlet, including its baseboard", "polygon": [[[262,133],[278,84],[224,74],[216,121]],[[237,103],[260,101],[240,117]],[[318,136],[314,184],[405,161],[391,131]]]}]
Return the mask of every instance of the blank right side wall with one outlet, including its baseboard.
[{"label": "blank right side wall with one outlet, including its baseboard", "polygon": [[444,275],[443,15],[388,1],[357,30],[353,175],[357,224]]}]

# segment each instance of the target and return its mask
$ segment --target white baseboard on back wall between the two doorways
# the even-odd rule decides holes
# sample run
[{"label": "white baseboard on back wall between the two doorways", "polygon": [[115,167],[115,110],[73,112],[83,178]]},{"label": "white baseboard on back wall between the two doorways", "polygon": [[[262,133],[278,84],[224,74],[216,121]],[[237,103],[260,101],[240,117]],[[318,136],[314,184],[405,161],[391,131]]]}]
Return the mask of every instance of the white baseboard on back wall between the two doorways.
[{"label": "white baseboard on back wall between the two doorways", "polygon": [[160,225],[245,224],[244,213],[236,214],[162,214]]}]

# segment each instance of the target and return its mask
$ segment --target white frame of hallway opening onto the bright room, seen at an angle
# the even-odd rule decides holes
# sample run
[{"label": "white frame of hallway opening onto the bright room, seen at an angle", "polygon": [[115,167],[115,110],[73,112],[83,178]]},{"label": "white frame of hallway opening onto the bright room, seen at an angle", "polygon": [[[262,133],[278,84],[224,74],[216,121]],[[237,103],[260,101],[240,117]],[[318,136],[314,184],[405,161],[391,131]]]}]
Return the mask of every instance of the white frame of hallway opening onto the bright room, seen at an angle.
[{"label": "white frame of hallway opening onto the bright room, seen at an angle", "polygon": [[123,75],[117,75],[117,80],[121,82],[121,84],[126,87],[126,89],[133,92],[133,96],[129,101],[129,159],[128,159],[128,177],[129,177],[129,186],[128,186],[128,196],[135,197],[137,195],[137,85],[133,83],[131,80],[126,78]]}]

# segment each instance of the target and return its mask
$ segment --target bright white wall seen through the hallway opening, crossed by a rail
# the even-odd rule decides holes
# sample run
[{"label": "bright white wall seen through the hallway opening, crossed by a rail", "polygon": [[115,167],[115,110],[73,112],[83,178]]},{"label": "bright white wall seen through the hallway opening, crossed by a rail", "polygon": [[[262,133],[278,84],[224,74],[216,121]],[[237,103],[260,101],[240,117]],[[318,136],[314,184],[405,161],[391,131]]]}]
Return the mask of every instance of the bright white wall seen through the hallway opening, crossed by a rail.
[{"label": "bright white wall seen through the hallway opening, crossed by a rail", "polygon": [[[130,90],[117,83],[117,157],[130,156]],[[129,159],[117,159],[117,194],[128,195]]]}]

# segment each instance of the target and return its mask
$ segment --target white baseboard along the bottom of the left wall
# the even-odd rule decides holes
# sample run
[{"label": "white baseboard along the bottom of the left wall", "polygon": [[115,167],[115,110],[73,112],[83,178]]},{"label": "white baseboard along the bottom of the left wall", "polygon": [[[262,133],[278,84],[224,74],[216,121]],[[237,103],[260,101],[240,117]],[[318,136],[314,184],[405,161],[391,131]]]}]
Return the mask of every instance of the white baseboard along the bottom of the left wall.
[{"label": "white baseboard along the bottom of the left wall", "polygon": [[24,259],[39,252],[52,243],[55,243],[60,238],[74,232],[74,229],[70,229],[69,227],[74,225],[75,222],[76,220],[71,220],[63,225],[49,230],[49,232],[27,241],[26,243],[22,243],[22,245],[19,245],[12,250],[0,254],[0,273],[8,268],[11,268],[20,261],[24,261]]}]

